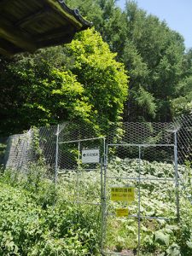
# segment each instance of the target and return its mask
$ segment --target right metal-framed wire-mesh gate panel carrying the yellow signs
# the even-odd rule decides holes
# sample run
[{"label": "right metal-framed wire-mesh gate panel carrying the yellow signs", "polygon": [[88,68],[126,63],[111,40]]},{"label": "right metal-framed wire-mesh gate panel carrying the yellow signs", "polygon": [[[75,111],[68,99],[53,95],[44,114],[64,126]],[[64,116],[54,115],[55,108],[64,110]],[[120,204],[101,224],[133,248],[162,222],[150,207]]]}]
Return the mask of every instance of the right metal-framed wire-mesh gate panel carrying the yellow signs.
[{"label": "right metal-framed wire-mesh gate panel carrying the yellow signs", "polygon": [[143,233],[158,221],[177,219],[176,147],[108,144],[106,164],[102,252],[131,255],[134,251],[139,255]]}]

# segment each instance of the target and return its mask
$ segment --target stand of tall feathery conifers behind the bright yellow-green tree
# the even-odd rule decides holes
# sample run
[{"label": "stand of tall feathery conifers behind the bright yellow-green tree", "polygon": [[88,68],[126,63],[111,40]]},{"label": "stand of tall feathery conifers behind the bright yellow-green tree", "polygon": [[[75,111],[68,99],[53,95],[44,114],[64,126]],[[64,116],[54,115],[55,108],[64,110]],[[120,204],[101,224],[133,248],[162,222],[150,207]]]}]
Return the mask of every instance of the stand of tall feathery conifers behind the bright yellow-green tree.
[{"label": "stand of tall feathery conifers behind the bright yellow-green tree", "polygon": [[139,9],[135,1],[127,1],[123,11],[113,0],[86,3],[68,0],[67,3],[73,3],[72,7],[78,7],[93,21],[110,49],[117,52],[116,59],[125,64],[131,80],[124,119],[172,119],[177,87],[183,72],[189,73],[191,67],[189,59],[184,60],[183,37],[172,31],[165,21]]}]

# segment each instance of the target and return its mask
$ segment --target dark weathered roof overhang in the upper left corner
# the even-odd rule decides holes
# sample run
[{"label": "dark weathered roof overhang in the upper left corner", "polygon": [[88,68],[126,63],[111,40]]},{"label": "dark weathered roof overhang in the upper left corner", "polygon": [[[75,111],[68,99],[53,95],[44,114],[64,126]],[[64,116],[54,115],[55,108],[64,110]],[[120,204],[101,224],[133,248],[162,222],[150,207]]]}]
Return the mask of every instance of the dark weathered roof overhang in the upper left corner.
[{"label": "dark weathered roof overhang in the upper left corner", "polygon": [[62,0],[0,0],[0,54],[67,44],[90,26]]}]

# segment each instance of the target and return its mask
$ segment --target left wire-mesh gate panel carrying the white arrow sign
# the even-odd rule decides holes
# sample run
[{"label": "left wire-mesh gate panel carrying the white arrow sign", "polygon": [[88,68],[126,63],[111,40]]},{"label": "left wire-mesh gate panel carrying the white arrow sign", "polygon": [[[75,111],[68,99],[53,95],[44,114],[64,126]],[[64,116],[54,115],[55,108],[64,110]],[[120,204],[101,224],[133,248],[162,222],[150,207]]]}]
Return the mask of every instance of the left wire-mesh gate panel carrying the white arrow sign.
[{"label": "left wire-mesh gate panel carrying the white arrow sign", "polygon": [[57,174],[73,186],[69,201],[101,204],[104,143],[103,137],[58,143]]}]

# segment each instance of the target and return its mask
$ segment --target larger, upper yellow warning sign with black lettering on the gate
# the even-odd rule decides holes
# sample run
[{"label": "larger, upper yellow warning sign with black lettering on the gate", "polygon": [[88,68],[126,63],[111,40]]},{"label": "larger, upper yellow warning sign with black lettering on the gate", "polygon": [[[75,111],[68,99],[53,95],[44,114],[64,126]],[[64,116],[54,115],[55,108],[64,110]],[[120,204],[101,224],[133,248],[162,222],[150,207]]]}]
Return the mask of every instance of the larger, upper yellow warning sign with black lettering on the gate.
[{"label": "larger, upper yellow warning sign with black lettering on the gate", "polygon": [[111,188],[111,200],[112,201],[127,201],[131,202],[135,200],[135,188],[134,187],[113,187]]}]

